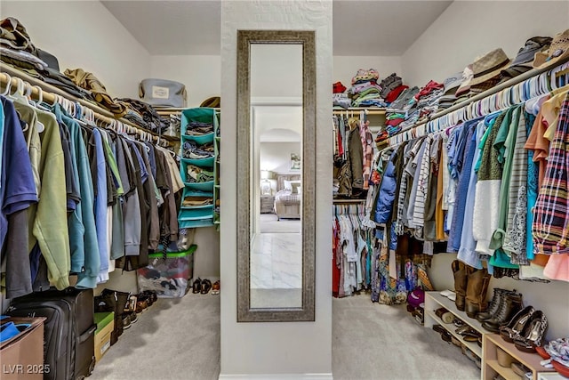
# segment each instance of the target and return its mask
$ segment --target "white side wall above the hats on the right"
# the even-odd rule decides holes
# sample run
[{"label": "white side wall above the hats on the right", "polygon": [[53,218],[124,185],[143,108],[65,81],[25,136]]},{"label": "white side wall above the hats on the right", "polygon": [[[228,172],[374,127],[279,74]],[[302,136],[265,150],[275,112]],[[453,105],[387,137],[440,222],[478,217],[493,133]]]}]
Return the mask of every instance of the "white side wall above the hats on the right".
[{"label": "white side wall above the hats on the right", "polygon": [[569,28],[567,1],[455,1],[401,57],[405,82],[443,82],[501,47],[514,58],[532,36]]}]

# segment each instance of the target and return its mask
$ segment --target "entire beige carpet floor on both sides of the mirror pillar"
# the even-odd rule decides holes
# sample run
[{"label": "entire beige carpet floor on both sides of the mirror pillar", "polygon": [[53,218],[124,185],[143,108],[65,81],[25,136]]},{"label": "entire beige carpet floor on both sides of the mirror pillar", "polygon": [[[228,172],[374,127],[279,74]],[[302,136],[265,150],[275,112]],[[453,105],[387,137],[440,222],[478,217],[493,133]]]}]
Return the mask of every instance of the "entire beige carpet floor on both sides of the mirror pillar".
[{"label": "entire beige carpet floor on both sides of the mirror pillar", "polygon": [[[405,306],[369,295],[333,299],[334,380],[475,380],[461,351],[421,327]],[[89,380],[210,380],[220,374],[220,297],[159,299],[124,331]]]}]

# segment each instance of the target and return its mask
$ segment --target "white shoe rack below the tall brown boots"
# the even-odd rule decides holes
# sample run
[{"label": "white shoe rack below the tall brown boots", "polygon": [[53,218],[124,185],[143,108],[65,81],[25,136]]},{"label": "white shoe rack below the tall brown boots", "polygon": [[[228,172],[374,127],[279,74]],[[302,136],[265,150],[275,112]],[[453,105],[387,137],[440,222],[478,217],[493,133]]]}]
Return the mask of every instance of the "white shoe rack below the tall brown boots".
[{"label": "white shoe rack below the tall brown boots", "polygon": [[[482,324],[480,322],[478,322],[477,319],[469,318],[466,315],[466,312],[457,310],[456,306],[454,305],[454,301],[451,301],[450,299],[446,298],[444,295],[440,295],[437,291],[425,292],[425,324],[424,324],[424,326],[432,328],[433,325],[441,325],[442,327],[445,327],[445,329],[452,336],[454,336],[456,339],[458,339],[461,342],[461,344],[466,345],[470,351],[474,352],[475,355],[477,355],[477,357],[482,360],[483,350],[482,350],[482,348],[480,348],[480,346],[478,346],[478,344],[476,342],[464,341],[462,339],[463,336],[454,332],[454,330],[456,330],[457,327],[454,326],[453,323],[445,323],[445,322],[443,322],[442,319],[437,317],[437,314],[435,314],[435,311],[441,307],[444,307],[446,310],[452,312],[454,317],[456,317],[457,319],[461,319],[466,325],[474,328],[475,330],[477,330],[478,333],[482,334],[482,336],[485,336],[485,334],[488,334],[488,332],[482,327]],[[484,347],[484,344],[483,344],[483,347]]]}]

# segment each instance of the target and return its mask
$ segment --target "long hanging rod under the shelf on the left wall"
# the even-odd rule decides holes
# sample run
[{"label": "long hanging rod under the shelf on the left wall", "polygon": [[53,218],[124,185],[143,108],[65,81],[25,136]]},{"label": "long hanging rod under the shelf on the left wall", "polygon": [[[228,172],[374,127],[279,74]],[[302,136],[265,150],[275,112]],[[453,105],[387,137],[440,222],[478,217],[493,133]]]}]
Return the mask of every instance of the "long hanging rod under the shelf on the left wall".
[{"label": "long hanging rod under the shelf on the left wall", "polygon": [[[13,69],[12,67],[7,66],[2,62],[0,62],[0,70],[1,70],[0,83],[2,83],[2,85],[4,86],[7,85],[9,77],[12,79],[11,83],[11,85],[13,86],[12,88],[17,87],[18,81],[22,81],[24,84],[28,83],[28,85],[30,85],[32,88],[31,95],[34,96],[36,100],[39,99],[39,93],[40,93],[40,91],[38,90],[39,87],[42,90],[42,97],[45,101],[49,101],[52,104],[56,103],[57,95],[59,95],[64,99],[67,99],[68,101],[78,102],[82,107],[91,109],[92,112],[94,113],[95,119],[99,120],[101,123],[104,123],[106,125],[114,125],[117,121],[119,121],[130,128],[134,128],[134,132],[136,132],[140,136],[143,136],[144,134],[149,134],[152,136],[152,140],[156,141],[156,143],[164,141],[168,144],[168,146],[172,145],[172,143],[170,142],[172,141],[172,138],[167,138],[167,136],[162,136],[157,133],[148,131],[146,129],[142,129],[140,128],[140,126],[133,124],[131,121],[126,120],[123,117],[117,118],[112,114],[112,112],[109,112],[106,109],[102,109],[98,105],[93,104],[90,101],[84,101],[83,99],[78,99],[75,96],[66,93],[63,90],[60,90],[54,85],[47,84],[44,81],[36,79],[35,77],[30,77],[28,76],[28,74],[18,69]],[[178,139],[174,138],[174,140],[177,141]]]}]

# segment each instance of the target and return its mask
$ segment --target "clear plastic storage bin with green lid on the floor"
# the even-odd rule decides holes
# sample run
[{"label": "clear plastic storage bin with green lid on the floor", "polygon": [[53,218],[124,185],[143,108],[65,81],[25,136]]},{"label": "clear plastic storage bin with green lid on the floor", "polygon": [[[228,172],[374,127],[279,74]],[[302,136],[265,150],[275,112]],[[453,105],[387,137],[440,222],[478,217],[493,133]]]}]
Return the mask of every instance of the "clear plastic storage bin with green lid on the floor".
[{"label": "clear plastic storage bin with green lid on the floor", "polygon": [[188,280],[194,275],[194,253],[191,245],[184,252],[148,255],[148,266],[138,270],[140,292],[154,290],[158,297],[183,297],[188,291]]}]

